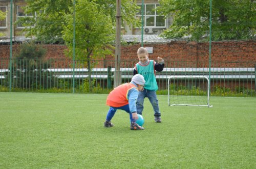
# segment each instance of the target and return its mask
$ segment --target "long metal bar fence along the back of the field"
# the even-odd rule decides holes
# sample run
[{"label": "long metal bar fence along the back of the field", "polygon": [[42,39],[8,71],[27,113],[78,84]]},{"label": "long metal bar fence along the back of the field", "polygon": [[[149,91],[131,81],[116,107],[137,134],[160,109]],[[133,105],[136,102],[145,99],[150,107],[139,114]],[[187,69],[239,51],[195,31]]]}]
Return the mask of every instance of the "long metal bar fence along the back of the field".
[{"label": "long metal bar fence along the back of the field", "polygon": [[[129,82],[137,60],[120,61],[122,82]],[[22,92],[65,92],[73,91],[73,78],[76,93],[108,93],[113,89],[115,61],[91,61],[90,71],[87,61],[71,60],[0,60],[0,91]],[[221,90],[255,96],[255,63],[212,62],[209,76],[208,62],[168,62],[164,70],[156,72],[159,91],[167,90],[169,76],[205,76],[210,79],[210,91]],[[91,78],[89,78],[91,77]]]}]

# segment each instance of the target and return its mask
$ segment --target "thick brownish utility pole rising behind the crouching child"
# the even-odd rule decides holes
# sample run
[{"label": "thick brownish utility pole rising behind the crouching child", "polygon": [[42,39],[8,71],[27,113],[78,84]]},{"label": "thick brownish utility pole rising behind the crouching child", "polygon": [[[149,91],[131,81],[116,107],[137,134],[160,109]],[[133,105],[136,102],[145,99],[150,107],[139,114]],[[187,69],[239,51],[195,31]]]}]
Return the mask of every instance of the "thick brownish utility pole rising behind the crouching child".
[{"label": "thick brownish utility pole rising behind the crouching child", "polygon": [[116,49],[115,49],[115,76],[114,88],[121,85],[120,58],[121,58],[121,0],[116,0]]}]

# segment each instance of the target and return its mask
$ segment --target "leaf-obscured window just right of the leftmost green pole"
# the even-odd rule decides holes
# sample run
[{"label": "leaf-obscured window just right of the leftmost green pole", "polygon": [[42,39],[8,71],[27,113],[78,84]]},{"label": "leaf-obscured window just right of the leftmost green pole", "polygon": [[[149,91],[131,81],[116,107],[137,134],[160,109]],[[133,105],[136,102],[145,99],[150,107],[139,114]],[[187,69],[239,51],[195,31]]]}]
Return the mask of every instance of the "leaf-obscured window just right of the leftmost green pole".
[{"label": "leaf-obscured window just right of the leftmost green pole", "polygon": [[[25,6],[17,6],[17,21],[19,19],[23,19],[25,17],[29,17],[30,19],[34,19],[33,14],[32,13],[26,14],[24,8],[25,8]],[[26,26],[33,27],[34,26],[33,23],[28,25],[29,20],[26,20]],[[17,23],[17,28],[25,28],[24,23],[18,22]]]}]

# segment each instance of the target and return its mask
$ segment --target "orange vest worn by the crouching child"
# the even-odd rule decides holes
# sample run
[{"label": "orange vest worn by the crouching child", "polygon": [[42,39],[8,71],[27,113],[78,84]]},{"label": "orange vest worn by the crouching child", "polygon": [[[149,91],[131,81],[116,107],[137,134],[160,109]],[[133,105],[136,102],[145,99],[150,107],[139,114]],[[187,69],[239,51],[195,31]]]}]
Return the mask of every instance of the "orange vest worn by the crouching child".
[{"label": "orange vest worn by the crouching child", "polygon": [[112,92],[110,92],[108,98],[106,98],[106,105],[112,107],[121,107],[129,104],[128,92],[129,90],[137,88],[133,83],[124,83],[116,87]]}]

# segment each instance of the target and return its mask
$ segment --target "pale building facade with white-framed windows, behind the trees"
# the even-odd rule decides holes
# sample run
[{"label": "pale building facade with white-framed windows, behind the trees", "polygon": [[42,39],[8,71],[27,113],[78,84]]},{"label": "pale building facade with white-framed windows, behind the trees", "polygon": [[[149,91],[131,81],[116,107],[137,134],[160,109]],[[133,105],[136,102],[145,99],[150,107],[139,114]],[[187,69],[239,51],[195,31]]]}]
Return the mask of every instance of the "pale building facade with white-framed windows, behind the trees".
[{"label": "pale building facade with white-framed windows, behind the trees", "polygon": [[[141,9],[142,1],[137,1],[137,5]],[[21,24],[16,24],[15,22],[21,17],[33,17],[36,14],[26,14],[24,7],[26,6],[25,0],[13,0],[12,4],[12,35],[15,40],[18,37],[24,37],[25,33],[23,29],[25,28]],[[144,12],[143,12],[143,34],[145,35],[159,35],[172,24],[172,18],[165,18],[162,15],[159,15],[157,11],[154,9],[159,6],[158,0],[145,0],[144,1]],[[10,0],[0,0],[0,10],[2,12],[7,12],[6,18],[0,21],[0,40],[9,39],[10,38],[10,19],[11,19],[11,1]],[[136,14],[136,18],[142,18],[141,10]],[[33,26],[33,25],[31,25]],[[124,35],[141,35],[141,27],[136,27],[133,25],[129,25],[124,23],[122,27],[122,33]]]}]

